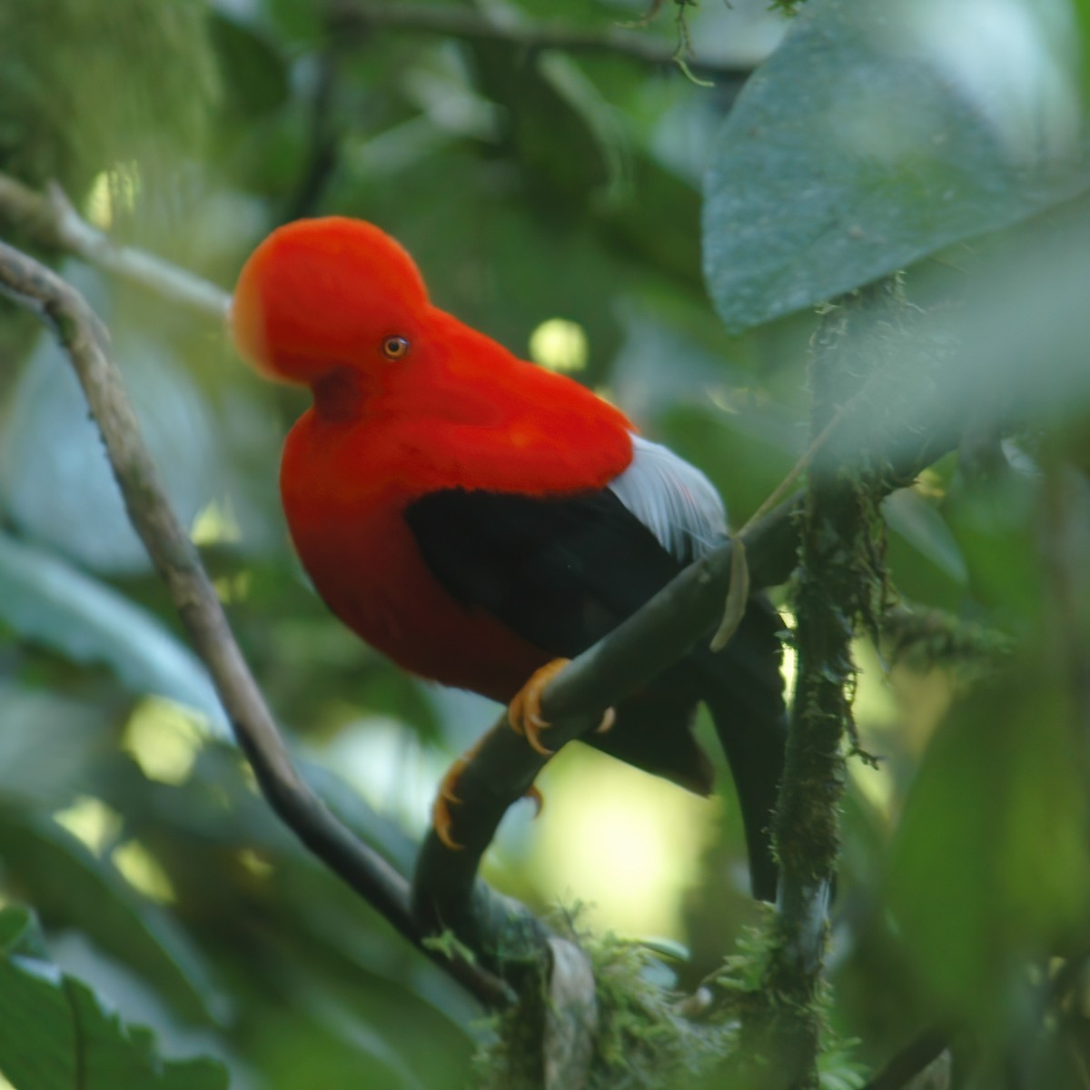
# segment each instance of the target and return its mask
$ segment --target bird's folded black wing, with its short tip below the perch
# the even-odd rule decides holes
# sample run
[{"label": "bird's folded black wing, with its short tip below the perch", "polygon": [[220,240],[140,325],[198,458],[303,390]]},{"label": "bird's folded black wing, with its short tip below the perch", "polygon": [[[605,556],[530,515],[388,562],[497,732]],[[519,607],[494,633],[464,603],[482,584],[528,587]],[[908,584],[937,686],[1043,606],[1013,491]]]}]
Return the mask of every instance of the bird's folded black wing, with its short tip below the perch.
[{"label": "bird's folded black wing, with its short tip below the perch", "polygon": [[[405,519],[444,590],[554,657],[573,658],[635,613],[681,565],[609,489],[541,498],[455,488],[416,500]],[[700,693],[675,668],[588,741],[690,790],[712,767],[690,726]]]}]

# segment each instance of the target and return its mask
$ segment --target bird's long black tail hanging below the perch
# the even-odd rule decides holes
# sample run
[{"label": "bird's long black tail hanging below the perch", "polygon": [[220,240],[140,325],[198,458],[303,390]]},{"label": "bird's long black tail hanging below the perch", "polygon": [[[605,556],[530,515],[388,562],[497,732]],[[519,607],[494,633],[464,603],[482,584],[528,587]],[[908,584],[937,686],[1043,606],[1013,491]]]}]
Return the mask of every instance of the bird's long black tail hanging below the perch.
[{"label": "bird's long black tail hanging below the perch", "polygon": [[750,602],[738,631],[717,653],[693,654],[707,704],[730,764],[749,849],[753,896],[776,899],[778,868],[771,825],[784,772],[787,713],[779,673],[784,623],[762,597]]}]

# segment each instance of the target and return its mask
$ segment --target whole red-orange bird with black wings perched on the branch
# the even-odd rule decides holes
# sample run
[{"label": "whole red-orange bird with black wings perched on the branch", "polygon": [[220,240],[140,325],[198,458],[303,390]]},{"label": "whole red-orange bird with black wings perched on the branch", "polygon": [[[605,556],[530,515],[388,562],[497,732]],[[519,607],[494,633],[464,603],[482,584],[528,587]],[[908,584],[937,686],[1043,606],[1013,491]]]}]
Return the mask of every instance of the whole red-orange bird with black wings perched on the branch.
[{"label": "whole red-orange bird with black wings perched on the branch", "polygon": [[[542,668],[726,537],[702,473],[578,383],[433,306],[412,258],[371,223],[274,231],[239,278],[233,331],[259,372],[314,396],[288,436],[280,488],[329,608],[414,674],[517,701],[513,725],[535,747]],[[765,899],[786,732],[779,628],[758,600],[725,651],[694,649],[589,739],[707,794],[711,764],[691,732],[704,701]]]}]

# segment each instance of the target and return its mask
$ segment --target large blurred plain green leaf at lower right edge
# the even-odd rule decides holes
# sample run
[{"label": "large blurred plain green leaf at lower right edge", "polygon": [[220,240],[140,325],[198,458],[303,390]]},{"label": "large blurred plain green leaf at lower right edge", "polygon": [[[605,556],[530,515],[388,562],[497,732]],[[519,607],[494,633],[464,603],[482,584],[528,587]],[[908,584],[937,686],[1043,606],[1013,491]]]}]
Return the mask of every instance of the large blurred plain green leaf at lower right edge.
[{"label": "large blurred plain green leaf at lower right edge", "polygon": [[905,807],[886,889],[933,1015],[1006,1017],[1028,959],[1085,920],[1081,726],[1039,661],[962,702]]}]

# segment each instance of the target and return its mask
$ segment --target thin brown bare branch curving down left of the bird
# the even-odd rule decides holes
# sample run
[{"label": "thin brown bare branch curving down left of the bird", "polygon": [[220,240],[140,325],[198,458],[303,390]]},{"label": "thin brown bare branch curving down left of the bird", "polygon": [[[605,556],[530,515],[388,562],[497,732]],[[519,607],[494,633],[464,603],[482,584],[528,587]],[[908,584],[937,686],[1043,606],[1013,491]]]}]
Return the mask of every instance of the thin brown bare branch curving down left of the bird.
[{"label": "thin brown bare branch curving down left of the bird", "polygon": [[[328,810],[296,772],[246,666],[192,542],[170,509],[140,425],[107,350],[108,336],[72,287],[0,242],[0,287],[52,327],[76,372],[106,444],[133,523],[207,665],[269,804],[302,843],[417,947],[424,934],[410,911],[409,884]],[[457,952],[427,950],[483,1003],[504,1002],[504,983]]]}]

